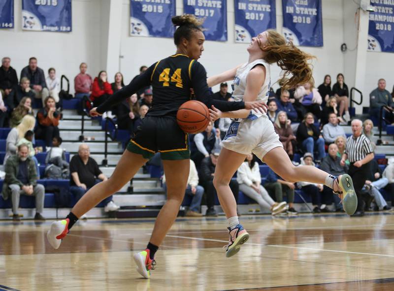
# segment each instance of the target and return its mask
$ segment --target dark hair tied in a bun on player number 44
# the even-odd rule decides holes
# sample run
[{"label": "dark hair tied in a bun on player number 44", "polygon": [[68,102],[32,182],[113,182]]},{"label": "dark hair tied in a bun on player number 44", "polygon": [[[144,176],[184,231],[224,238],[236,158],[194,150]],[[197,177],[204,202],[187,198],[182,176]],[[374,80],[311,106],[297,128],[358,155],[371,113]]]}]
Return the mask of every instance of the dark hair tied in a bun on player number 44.
[{"label": "dark hair tied in a bun on player number 44", "polygon": [[171,21],[174,26],[178,27],[174,33],[175,45],[178,45],[182,38],[190,40],[194,31],[202,32],[201,25],[204,22],[203,19],[197,19],[196,16],[192,14],[174,16],[171,18]]}]

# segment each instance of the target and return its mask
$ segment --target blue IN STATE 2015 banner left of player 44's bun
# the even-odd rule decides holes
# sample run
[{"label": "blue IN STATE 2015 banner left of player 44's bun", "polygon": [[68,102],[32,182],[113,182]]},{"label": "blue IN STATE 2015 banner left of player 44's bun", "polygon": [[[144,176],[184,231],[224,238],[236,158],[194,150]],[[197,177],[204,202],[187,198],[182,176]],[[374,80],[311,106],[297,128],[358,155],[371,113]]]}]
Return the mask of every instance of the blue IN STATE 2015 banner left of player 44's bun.
[{"label": "blue IN STATE 2015 banner left of player 44's bun", "polygon": [[130,35],[172,37],[175,0],[130,0]]}]

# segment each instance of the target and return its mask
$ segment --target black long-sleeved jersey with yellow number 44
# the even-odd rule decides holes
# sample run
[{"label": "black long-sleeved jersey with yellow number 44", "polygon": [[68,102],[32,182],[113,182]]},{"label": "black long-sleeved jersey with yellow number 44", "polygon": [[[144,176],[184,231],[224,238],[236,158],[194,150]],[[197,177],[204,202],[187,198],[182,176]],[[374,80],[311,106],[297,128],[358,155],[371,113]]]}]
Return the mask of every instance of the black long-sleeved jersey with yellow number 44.
[{"label": "black long-sleeved jersey with yellow number 44", "polygon": [[244,102],[214,100],[206,82],[205,68],[186,55],[176,54],[151,65],[129,85],[108,98],[97,111],[103,113],[138,89],[149,85],[153,88],[153,103],[147,116],[175,116],[179,106],[191,99],[191,88],[196,99],[208,108],[211,105],[222,111],[245,108]]}]

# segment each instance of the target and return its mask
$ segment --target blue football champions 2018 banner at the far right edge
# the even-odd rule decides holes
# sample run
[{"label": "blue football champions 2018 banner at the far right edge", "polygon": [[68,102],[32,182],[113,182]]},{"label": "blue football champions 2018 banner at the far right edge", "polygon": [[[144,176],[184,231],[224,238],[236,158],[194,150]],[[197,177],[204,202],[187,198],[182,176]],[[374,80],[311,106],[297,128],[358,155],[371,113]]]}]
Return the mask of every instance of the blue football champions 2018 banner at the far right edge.
[{"label": "blue football champions 2018 banner at the far right edge", "polygon": [[371,0],[368,51],[394,52],[394,0]]}]

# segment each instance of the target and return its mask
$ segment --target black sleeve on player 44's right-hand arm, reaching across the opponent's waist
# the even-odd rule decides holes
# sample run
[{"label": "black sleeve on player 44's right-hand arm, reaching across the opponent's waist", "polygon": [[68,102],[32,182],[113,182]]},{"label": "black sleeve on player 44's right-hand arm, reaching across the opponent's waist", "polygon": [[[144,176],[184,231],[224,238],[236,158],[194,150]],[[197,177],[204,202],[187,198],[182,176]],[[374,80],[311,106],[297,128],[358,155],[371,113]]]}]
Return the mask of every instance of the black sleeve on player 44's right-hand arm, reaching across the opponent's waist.
[{"label": "black sleeve on player 44's right-hand arm, reaching across the opponent's waist", "polygon": [[245,108],[245,103],[243,101],[228,102],[213,99],[212,93],[209,90],[208,84],[206,83],[205,68],[197,61],[193,62],[190,74],[192,88],[197,100],[204,103],[208,108],[211,108],[211,106],[214,105],[223,112],[235,111]]}]

